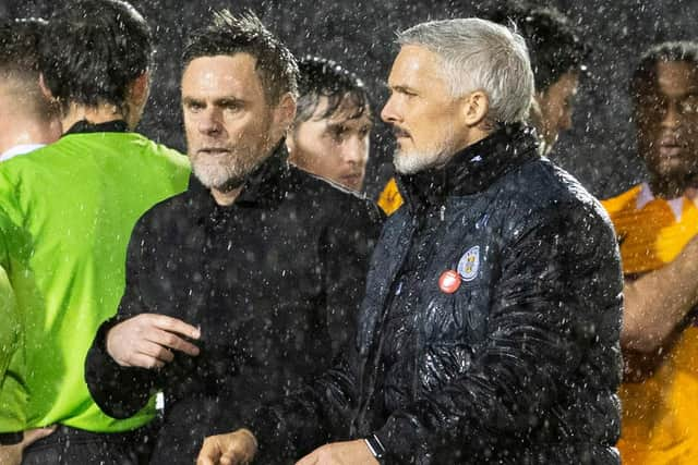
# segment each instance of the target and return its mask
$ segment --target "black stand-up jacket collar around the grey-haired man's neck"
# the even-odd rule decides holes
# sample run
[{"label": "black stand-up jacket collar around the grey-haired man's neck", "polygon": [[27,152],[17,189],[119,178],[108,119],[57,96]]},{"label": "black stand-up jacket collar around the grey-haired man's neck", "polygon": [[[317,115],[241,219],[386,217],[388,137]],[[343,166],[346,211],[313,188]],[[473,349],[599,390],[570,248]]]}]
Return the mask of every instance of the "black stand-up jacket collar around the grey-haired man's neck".
[{"label": "black stand-up jacket collar around the grey-haired man's neck", "polygon": [[507,124],[454,155],[445,167],[398,175],[398,186],[410,209],[441,205],[450,196],[482,192],[509,170],[539,157],[534,131]]}]

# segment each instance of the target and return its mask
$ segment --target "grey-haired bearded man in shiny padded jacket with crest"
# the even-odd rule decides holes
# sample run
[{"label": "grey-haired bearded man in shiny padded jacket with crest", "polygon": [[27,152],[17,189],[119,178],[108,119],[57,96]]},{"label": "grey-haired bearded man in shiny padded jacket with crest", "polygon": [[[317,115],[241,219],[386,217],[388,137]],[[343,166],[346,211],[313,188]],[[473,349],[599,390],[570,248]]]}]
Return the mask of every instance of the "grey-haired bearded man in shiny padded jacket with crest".
[{"label": "grey-haired bearded man in shiny padded jacket with crest", "polygon": [[357,338],[312,386],[208,438],[200,463],[618,464],[617,246],[522,124],[524,39],[468,19],[398,41],[382,118],[406,201]]}]

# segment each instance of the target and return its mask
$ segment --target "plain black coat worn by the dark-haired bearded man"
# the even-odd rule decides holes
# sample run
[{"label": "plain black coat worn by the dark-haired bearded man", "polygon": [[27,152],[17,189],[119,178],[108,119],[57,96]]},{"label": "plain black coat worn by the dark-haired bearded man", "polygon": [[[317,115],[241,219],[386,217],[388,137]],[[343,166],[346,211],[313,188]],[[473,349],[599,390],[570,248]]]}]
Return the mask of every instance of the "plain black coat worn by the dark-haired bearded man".
[{"label": "plain black coat worn by the dark-haired bearded man", "polygon": [[[330,366],[353,333],[381,220],[368,200],[291,168],[281,147],[229,207],[192,176],[136,225],[119,314],[86,360],[95,401],[124,418],[163,389],[153,463],[193,463],[205,436]],[[160,371],[117,365],[106,331],[141,313],[200,326],[201,354],[176,354]]]}]

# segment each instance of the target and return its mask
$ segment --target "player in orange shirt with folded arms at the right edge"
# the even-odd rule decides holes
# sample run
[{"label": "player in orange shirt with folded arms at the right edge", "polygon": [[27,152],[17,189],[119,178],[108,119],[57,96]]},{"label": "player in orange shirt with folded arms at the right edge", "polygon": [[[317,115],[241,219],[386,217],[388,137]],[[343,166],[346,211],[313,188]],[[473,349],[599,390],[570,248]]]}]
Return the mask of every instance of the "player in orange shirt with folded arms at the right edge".
[{"label": "player in orange shirt with folded arms at the right edge", "polygon": [[698,457],[698,42],[649,49],[630,81],[649,179],[605,200],[625,273],[624,464]]}]

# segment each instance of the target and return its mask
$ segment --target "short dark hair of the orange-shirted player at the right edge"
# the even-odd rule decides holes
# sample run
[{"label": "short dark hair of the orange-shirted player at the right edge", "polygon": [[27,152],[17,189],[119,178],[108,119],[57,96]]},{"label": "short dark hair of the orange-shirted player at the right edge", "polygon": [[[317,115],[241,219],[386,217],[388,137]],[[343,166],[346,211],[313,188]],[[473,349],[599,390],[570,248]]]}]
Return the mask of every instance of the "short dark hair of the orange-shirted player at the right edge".
[{"label": "short dark hair of the orange-shirted player at the right edge", "polygon": [[637,102],[642,86],[657,81],[657,63],[683,61],[698,66],[698,42],[693,40],[669,41],[650,47],[642,56],[630,77],[630,97]]}]

